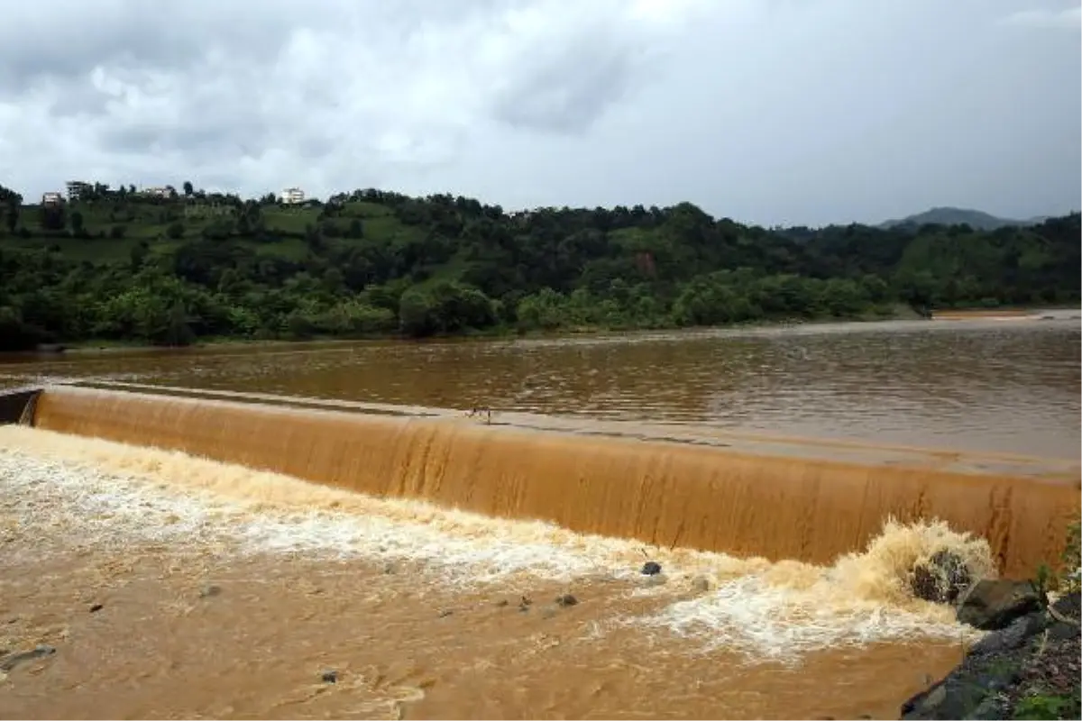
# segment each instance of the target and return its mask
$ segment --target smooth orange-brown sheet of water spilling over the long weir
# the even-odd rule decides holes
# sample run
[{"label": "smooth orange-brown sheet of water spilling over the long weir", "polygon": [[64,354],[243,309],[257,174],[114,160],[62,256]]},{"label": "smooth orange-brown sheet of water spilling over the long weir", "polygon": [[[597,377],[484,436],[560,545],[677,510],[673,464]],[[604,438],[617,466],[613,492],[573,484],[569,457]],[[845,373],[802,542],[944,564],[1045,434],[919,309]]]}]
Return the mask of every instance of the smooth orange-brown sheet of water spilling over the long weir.
[{"label": "smooth orange-brown sheet of water spilling over the long weir", "polygon": [[[1054,564],[1082,492],[1069,472],[872,463],[842,446],[764,453],[267,403],[50,387],[34,426],[156,446],[375,497],[663,547],[826,564],[887,518],[985,537],[1002,573]],[[971,464],[979,466],[980,464]]]}]

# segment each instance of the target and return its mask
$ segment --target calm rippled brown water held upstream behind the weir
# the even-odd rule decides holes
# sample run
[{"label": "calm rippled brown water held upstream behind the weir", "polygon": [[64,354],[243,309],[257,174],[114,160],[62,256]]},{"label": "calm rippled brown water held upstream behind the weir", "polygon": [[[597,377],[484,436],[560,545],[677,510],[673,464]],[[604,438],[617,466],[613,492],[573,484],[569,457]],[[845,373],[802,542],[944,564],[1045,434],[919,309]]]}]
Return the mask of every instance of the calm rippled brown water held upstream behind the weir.
[{"label": "calm rippled brown water held upstream behind the weir", "polygon": [[1072,318],[9,357],[0,384],[114,378],[1080,458]]}]

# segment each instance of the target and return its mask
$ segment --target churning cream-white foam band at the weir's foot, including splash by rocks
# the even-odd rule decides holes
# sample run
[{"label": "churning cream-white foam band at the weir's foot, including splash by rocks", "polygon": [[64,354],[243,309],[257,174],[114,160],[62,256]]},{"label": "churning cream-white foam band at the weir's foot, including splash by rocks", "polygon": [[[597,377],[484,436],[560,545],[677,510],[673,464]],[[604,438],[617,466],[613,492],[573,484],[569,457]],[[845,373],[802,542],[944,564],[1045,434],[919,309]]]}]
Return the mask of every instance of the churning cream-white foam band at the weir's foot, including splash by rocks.
[{"label": "churning cream-white foam band at the weir's foot, including splash by rocks", "polygon": [[[797,662],[852,644],[969,633],[949,609],[913,599],[908,574],[950,549],[994,575],[987,542],[944,523],[887,522],[862,551],[830,565],[646,547],[541,522],[487,518],[307,483],[177,452],[18,426],[0,428],[6,523],[76,546],[213,548],[238,558],[298,555],[423,565],[424,583],[509,588],[524,578],[606,580],[661,604],[608,619],[684,639],[686,650],[739,652],[745,663]],[[34,546],[10,551],[30,555]],[[643,576],[644,559],[663,573]],[[419,582],[420,583],[420,582]],[[592,632],[604,633],[605,625]]]}]

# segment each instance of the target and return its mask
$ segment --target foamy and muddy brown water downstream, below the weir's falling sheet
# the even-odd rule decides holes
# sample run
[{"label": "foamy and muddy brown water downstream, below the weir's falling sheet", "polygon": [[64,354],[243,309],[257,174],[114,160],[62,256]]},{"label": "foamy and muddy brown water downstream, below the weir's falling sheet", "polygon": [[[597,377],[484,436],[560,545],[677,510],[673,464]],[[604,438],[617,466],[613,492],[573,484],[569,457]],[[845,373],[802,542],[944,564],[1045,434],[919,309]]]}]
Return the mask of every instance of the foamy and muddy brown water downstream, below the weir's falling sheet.
[{"label": "foamy and muddy brown water downstream, below the weir's falling sheet", "polygon": [[972,642],[906,570],[990,563],[888,525],[830,566],[655,548],[655,584],[635,544],[13,426],[0,488],[0,646],[56,649],[0,718],[894,718]]}]

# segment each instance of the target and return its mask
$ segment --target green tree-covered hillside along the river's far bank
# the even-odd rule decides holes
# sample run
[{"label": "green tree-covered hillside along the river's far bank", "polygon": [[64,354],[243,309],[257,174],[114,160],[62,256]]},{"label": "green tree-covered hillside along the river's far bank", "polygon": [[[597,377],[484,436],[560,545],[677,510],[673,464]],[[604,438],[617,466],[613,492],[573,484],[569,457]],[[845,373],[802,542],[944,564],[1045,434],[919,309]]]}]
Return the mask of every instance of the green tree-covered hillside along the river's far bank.
[{"label": "green tree-covered hillside along the river's far bank", "polygon": [[0,186],[0,349],[890,317],[1082,301],[1082,214],[1031,227],[767,229],[665,209],[357,190],[283,205]]}]

